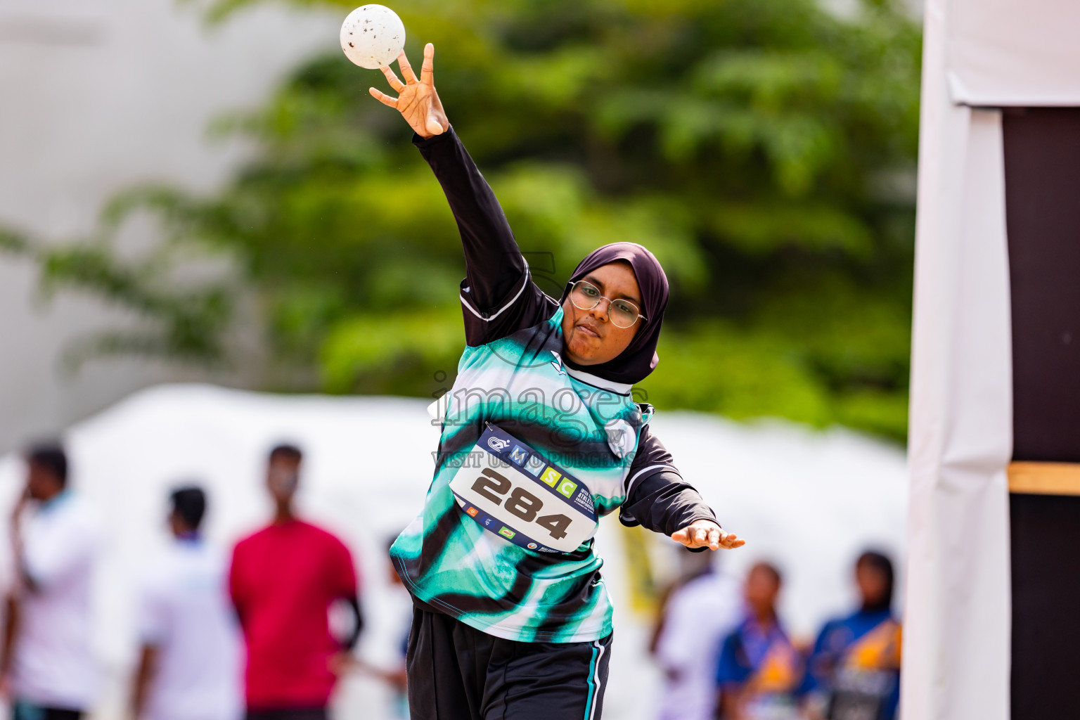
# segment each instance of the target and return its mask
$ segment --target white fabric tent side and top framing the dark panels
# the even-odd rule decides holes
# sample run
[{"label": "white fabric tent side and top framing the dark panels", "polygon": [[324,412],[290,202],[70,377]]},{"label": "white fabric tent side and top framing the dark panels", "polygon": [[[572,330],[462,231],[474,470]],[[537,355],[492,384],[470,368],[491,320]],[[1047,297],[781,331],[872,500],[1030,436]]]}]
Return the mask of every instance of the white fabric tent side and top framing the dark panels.
[{"label": "white fabric tent side and top framing the dark panels", "polygon": [[905,720],[1009,717],[1012,334],[1001,108],[1080,105],[1080,3],[928,0]]}]

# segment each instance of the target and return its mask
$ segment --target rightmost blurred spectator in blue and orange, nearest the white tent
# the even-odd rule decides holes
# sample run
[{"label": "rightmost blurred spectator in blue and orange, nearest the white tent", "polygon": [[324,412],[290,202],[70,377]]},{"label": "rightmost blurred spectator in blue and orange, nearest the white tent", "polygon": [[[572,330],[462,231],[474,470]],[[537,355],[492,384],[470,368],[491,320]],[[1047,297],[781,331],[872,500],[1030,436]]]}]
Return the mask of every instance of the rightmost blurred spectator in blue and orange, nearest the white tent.
[{"label": "rightmost blurred spectator in blue and orange, nearest the white tent", "polygon": [[811,718],[892,720],[900,703],[900,622],[892,615],[892,561],[855,562],[862,608],[825,624],[807,663],[802,692]]}]

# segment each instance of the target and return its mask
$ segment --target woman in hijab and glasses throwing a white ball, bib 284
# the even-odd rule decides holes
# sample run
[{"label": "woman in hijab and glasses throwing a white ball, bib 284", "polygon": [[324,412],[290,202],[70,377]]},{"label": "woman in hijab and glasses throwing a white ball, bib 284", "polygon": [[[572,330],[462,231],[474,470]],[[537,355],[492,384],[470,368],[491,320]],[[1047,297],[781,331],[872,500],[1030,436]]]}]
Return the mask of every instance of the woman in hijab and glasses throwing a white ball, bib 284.
[{"label": "woman in hijab and glasses throwing a white ball, bib 284", "polygon": [[557,301],[534,284],[499,203],[450,127],[424,47],[372,89],[416,132],[457,219],[467,348],[440,404],[423,511],[390,554],[416,606],[408,702],[423,720],[600,716],[611,601],[593,548],[616,508],[690,548],[738,547],[649,430],[631,385],[657,365],[667,279],[634,243],[590,254]]}]

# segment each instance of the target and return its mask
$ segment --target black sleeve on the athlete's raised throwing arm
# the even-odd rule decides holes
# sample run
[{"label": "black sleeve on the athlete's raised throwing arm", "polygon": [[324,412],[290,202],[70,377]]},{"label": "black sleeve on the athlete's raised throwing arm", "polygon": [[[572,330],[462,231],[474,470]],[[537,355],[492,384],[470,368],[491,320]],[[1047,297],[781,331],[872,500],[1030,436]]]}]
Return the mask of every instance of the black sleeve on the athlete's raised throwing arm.
[{"label": "black sleeve on the athlete's raised throwing arm", "polygon": [[454,128],[414,135],[413,144],[435,173],[461,233],[465,341],[482,345],[550,317],[555,301],[532,282],[499,201]]}]

